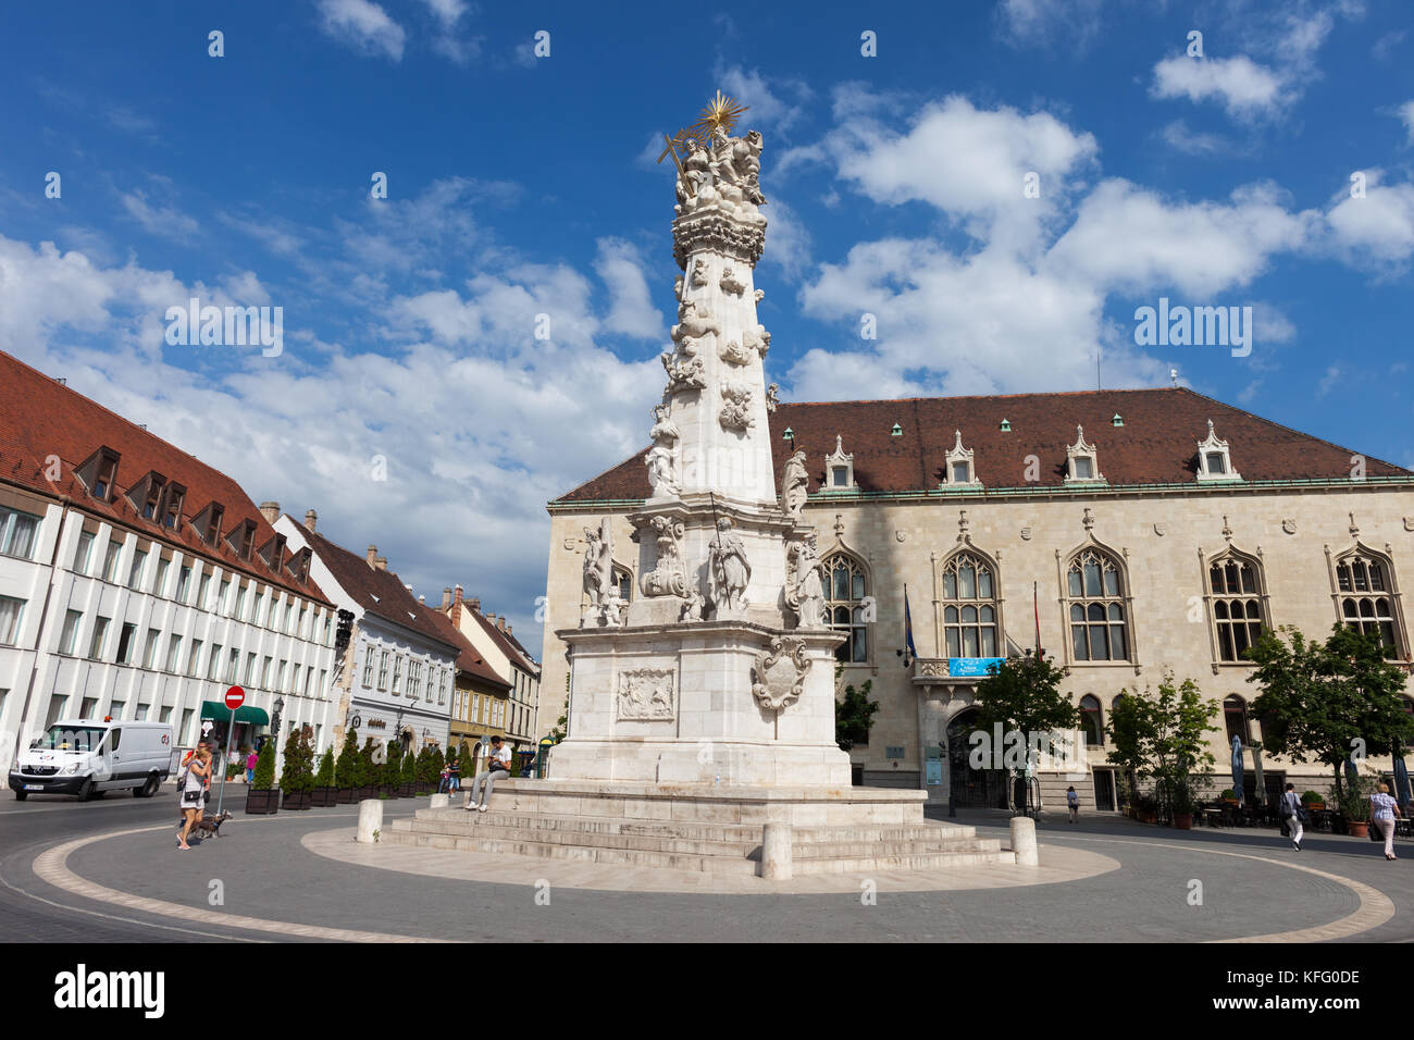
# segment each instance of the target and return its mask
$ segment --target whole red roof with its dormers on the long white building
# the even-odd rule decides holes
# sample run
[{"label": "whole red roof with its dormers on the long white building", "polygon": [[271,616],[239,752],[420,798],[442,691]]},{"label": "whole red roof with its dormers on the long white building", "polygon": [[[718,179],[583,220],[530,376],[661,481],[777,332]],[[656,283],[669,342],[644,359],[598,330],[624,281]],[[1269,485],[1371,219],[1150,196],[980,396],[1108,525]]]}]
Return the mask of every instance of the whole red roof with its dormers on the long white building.
[{"label": "whole red roof with its dormers on the long white building", "polygon": [[3,351],[0,481],[327,603],[230,477]]}]

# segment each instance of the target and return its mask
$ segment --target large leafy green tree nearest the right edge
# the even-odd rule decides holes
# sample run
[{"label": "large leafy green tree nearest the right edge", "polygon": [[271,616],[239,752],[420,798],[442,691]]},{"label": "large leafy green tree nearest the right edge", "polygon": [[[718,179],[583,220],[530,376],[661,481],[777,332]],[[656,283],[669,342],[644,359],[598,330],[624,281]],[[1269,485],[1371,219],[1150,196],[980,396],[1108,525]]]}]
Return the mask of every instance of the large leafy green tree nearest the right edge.
[{"label": "large leafy green tree nearest the right edge", "polygon": [[1251,707],[1264,746],[1328,765],[1338,802],[1345,798],[1342,767],[1352,754],[1391,754],[1414,736],[1401,698],[1404,675],[1384,659],[1377,635],[1336,624],[1321,642],[1284,625],[1266,632],[1247,657],[1257,662],[1247,682],[1261,689]]}]

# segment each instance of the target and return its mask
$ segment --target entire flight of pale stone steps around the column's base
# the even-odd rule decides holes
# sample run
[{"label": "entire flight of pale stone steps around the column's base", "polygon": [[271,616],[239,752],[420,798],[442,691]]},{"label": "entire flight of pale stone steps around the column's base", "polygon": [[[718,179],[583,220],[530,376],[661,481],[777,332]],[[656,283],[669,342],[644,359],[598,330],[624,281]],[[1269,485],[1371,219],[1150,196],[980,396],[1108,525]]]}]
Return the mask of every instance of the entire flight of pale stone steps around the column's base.
[{"label": "entire flight of pale stone steps around the column's base", "polygon": [[[792,839],[795,874],[1015,863],[998,839],[978,838],[971,826],[932,821],[796,826]],[[438,808],[419,809],[411,819],[395,819],[382,840],[428,849],[755,874],[762,825]]]}]

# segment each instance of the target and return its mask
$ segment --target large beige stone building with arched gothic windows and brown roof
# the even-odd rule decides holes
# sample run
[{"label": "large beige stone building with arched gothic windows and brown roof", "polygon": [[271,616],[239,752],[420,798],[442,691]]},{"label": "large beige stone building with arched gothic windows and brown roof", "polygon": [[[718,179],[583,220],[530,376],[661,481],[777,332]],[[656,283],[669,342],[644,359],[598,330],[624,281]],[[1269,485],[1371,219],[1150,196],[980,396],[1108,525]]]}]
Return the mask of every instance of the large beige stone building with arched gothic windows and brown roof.
[{"label": "large beige stone building with arched gothic windows and brown roof", "polygon": [[[988,658],[1034,649],[1038,634],[1086,717],[1089,768],[1069,782],[1102,809],[1116,805],[1103,727],[1126,691],[1167,671],[1195,679],[1222,705],[1223,777],[1232,736],[1261,737],[1241,659],[1261,630],[1325,637],[1339,621],[1411,659],[1414,473],[1189,389],[779,405],[769,424],[778,488],[805,453],[803,519],[847,637],[840,688],[868,681],[881,705],[851,751],[865,784],[1004,801],[1000,774],[966,765],[973,696]],[[619,594],[638,594],[625,515],[650,495],[648,454],[549,504],[546,689],[564,688],[554,631],[580,621],[585,528],[604,515]],[[1261,765],[1268,788],[1329,785],[1318,764]]]}]

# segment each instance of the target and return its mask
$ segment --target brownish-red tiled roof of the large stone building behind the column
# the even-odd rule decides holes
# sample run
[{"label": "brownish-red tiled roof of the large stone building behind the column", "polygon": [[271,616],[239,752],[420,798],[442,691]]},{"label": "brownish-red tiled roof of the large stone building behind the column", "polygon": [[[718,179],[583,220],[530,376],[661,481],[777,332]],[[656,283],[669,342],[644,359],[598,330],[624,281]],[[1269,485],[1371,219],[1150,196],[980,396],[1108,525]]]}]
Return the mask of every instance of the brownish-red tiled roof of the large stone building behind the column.
[{"label": "brownish-red tiled roof of the large stone building behind the column", "polygon": [[[1118,415],[1123,426],[1113,426]],[[1003,419],[1011,424],[1001,430]],[[864,492],[936,490],[954,430],[971,449],[984,488],[1063,487],[1066,446],[1075,427],[1096,446],[1100,475],[1111,487],[1196,485],[1198,441],[1208,420],[1230,446],[1232,466],[1244,481],[1349,480],[1349,449],[1298,433],[1191,389],[1014,393],[990,398],[908,398],[779,405],[771,415],[776,484],[792,451],[806,453],[810,490],[824,483],[824,457],[843,436],[854,456],[854,481]],[[894,424],[902,436],[891,436]],[[793,440],[785,440],[789,429]],[[642,499],[649,494],[648,449],[581,484],[551,505]],[[1039,480],[1025,480],[1028,456],[1039,460]],[[1410,477],[1408,470],[1366,458],[1367,477]]]}]

